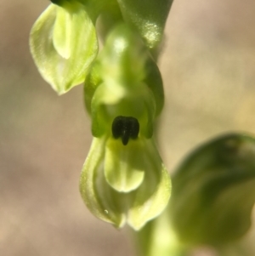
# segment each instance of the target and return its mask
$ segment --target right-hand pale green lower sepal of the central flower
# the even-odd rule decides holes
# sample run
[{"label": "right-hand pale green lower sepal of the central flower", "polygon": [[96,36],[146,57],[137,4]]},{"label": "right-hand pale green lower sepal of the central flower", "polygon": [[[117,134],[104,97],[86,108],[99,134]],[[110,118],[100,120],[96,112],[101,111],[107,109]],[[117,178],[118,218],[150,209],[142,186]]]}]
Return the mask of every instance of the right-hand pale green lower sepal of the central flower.
[{"label": "right-hand pale green lower sepal of the central flower", "polygon": [[167,206],[171,194],[171,181],[152,139],[144,139],[146,167],[144,182],[135,191],[127,222],[134,230],[141,229],[156,218]]}]

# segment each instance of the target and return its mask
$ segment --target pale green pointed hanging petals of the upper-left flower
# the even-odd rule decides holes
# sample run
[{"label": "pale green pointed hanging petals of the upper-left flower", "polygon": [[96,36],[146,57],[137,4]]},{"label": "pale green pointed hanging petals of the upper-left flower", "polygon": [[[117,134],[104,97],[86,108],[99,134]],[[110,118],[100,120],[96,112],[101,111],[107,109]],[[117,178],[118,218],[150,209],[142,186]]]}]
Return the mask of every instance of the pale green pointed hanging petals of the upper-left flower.
[{"label": "pale green pointed hanging petals of the upper-left flower", "polygon": [[94,24],[85,10],[67,12],[54,4],[32,27],[30,46],[38,71],[59,94],[85,80],[98,52]]}]

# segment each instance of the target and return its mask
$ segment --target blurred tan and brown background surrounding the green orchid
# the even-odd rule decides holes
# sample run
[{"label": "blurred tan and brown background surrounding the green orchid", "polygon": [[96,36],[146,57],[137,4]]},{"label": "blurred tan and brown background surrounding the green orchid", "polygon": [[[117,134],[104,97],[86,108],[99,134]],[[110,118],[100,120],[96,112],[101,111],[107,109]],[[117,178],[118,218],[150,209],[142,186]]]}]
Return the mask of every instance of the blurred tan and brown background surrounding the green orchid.
[{"label": "blurred tan and brown background surrounding the green orchid", "polygon": [[[92,140],[82,87],[59,97],[31,60],[29,32],[47,5],[0,3],[0,254],[134,255],[125,232],[95,219],[79,194]],[[255,134],[254,27],[254,0],[173,3],[159,60],[166,105],[157,134],[170,171],[212,136]],[[251,256],[254,237],[251,230],[240,242]]]}]

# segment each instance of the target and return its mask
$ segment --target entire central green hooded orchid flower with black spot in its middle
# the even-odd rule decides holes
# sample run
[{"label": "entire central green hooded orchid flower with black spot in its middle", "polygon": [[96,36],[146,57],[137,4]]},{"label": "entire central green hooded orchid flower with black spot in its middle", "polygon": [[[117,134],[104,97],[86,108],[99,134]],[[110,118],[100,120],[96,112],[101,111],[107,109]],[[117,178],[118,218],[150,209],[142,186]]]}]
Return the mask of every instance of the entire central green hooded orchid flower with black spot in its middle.
[{"label": "entire central green hooded orchid flower with black spot in its middle", "polygon": [[160,81],[158,88],[145,83],[148,61],[139,34],[121,24],[94,63],[96,76],[85,82],[94,140],[82,168],[82,198],[99,219],[116,227],[127,222],[134,230],[162,212],[171,190],[152,139],[163,93],[157,70],[152,81]]}]

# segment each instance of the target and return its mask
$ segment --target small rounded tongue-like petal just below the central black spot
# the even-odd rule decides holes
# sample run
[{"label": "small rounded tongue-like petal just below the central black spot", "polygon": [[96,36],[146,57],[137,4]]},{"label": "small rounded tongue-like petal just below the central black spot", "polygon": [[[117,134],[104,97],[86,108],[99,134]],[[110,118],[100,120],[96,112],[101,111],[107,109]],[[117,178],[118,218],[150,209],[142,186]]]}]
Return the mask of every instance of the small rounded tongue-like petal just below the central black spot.
[{"label": "small rounded tongue-like petal just below the central black spot", "polygon": [[144,145],[140,139],[122,145],[120,139],[108,139],[105,149],[105,179],[116,190],[129,192],[144,180]]}]

